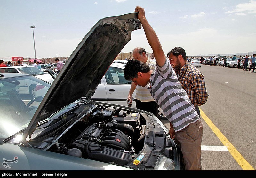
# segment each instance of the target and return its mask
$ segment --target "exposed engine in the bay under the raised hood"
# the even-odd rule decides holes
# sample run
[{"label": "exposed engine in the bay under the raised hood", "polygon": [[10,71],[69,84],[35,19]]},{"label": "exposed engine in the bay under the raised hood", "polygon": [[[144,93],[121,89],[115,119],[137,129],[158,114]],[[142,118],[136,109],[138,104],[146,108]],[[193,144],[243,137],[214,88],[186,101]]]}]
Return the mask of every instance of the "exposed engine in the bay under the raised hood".
[{"label": "exposed engine in the bay under the raised hood", "polygon": [[69,129],[51,151],[124,166],[143,149],[145,132],[146,120],[139,112],[100,105]]}]

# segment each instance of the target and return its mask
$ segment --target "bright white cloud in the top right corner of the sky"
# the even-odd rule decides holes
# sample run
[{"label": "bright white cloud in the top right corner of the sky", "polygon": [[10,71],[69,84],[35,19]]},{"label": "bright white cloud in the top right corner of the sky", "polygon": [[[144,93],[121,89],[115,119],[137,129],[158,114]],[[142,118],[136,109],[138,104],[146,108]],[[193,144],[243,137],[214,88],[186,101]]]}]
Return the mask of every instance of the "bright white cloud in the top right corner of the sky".
[{"label": "bright white cloud in the top right corner of the sky", "polygon": [[256,1],[251,0],[249,3],[242,3],[236,5],[235,9],[232,11],[225,12],[226,14],[232,13],[245,13],[245,14],[255,14],[256,13]]}]

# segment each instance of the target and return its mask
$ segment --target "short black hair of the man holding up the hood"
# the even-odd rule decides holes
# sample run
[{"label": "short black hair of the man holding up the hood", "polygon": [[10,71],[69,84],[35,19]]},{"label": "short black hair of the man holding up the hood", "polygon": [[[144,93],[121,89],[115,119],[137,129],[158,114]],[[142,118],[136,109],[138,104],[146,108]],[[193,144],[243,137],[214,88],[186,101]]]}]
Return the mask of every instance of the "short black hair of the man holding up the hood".
[{"label": "short black hair of the man holding up the hood", "polygon": [[129,60],[124,67],[124,78],[126,80],[131,80],[133,78],[138,78],[138,72],[148,73],[150,67],[139,60],[131,59]]}]

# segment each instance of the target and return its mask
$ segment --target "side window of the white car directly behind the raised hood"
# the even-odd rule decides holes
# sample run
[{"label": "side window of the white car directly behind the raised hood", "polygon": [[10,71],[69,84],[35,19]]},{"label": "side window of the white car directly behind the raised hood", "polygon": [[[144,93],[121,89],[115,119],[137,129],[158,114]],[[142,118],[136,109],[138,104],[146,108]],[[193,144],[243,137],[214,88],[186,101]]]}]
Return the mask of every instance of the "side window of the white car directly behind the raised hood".
[{"label": "side window of the white car directly behind the raised hood", "polygon": [[127,81],[124,78],[124,69],[118,67],[109,67],[105,73],[107,84],[132,84],[132,81]]}]

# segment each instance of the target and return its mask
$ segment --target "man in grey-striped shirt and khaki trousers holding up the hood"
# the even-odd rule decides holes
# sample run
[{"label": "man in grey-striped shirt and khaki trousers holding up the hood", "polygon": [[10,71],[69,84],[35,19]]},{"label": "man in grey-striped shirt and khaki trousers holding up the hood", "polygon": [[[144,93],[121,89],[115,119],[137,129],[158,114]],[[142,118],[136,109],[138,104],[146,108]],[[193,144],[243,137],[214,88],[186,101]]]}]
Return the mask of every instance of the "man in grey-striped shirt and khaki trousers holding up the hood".
[{"label": "man in grey-striped shirt and khaki trousers holding up the hood", "polygon": [[170,121],[170,138],[175,138],[177,146],[180,146],[185,170],[202,170],[202,121],[167,61],[159,39],[145,17],[144,9],[137,6],[135,12],[139,12],[138,19],[153,49],[157,67],[153,71],[145,63],[130,60],[125,66],[124,77],[132,80],[136,86],[148,86],[152,97]]}]

